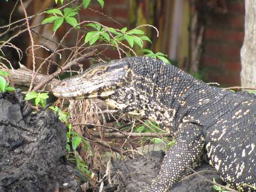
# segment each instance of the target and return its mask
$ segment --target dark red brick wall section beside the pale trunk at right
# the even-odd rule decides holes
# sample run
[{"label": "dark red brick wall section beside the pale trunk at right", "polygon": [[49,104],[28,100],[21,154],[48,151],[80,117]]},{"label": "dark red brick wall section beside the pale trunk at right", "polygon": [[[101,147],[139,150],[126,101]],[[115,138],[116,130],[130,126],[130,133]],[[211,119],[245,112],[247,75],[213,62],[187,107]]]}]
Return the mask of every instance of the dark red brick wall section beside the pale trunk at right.
[{"label": "dark red brick wall section beside the pale trunk at right", "polygon": [[240,84],[240,50],[244,38],[244,1],[227,0],[226,14],[206,19],[204,53],[201,66],[205,79],[223,86]]}]

